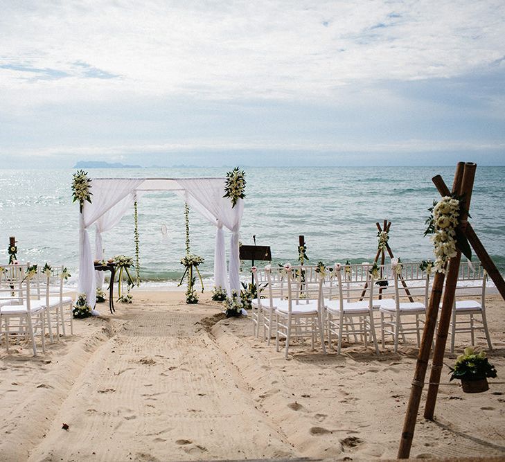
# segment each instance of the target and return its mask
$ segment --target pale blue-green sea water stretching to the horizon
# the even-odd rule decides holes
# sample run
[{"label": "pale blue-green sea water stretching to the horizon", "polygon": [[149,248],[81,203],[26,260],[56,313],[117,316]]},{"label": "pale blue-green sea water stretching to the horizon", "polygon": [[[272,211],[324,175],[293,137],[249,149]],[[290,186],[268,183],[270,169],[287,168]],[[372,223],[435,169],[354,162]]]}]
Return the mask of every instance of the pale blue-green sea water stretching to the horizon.
[{"label": "pale blue-green sea water stretching to the horizon", "polygon": [[[310,262],[372,260],[375,222],[392,222],[389,243],[402,260],[432,257],[423,237],[427,208],[438,198],[431,178],[452,184],[453,167],[245,168],[247,197],[241,242],[270,245],[276,262],[296,262],[303,234]],[[226,168],[88,170],[93,177],[220,177]],[[8,237],[18,241],[19,260],[64,264],[77,273],[78,204],[71,203],[74,170],[0,170],[0,263]],[[505,167],[478,167],[470,220],[497,267],[505,271]],[[161,226],[168,233],[162,236]],[[134,256],[133,211],[104,233],[105,254]],[[182,274],[184,203],[172,193],[139,202],[142,278],[175,281]],[[94,233],[91,232],[91,239]],[[205,258],[211,276],[215,228],[191,213],[191,251]],[[228,241],[227,241],[228,244]]]}]

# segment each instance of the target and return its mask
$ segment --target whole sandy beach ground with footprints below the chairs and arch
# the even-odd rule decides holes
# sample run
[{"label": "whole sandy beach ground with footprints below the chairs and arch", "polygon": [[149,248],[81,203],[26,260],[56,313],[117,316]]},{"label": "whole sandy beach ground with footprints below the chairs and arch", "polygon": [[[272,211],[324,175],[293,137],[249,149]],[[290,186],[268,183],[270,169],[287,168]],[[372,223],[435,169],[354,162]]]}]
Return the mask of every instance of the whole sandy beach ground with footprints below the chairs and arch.
[{"label": "whole sandy beach ground with footprints below the chairs and arch", "polygon": [[[276,353],[251,320],[184,292],[135,292],[116,314],[75,320],[73,337],[30,355],[0,350],[0,440],[5,461],[394,459],[415,343],[376,357],[294,346]],[[488,297],[498,377],[463,393],[443,371],[436,421],[422,418],[412,458],[505,457],[505,303]],[[478,344],[484,347],[484,337]],[[451,364],[466,346],[457,337]],[[68,425],[64,429],[64,424]]]}]

